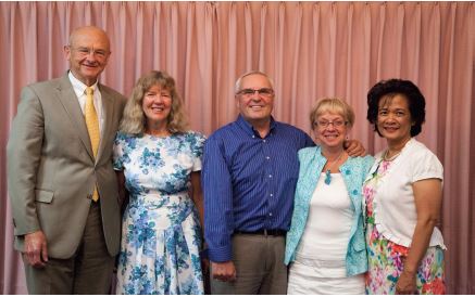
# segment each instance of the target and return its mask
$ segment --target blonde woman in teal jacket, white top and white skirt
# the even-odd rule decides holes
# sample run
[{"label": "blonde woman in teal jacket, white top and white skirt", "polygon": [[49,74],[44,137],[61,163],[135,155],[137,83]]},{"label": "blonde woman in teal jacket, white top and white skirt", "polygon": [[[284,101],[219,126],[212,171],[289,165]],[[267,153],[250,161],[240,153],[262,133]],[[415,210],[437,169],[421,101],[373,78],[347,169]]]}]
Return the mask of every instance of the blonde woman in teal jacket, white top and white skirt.
[{"label": "blonde woman in teal jacket, white top and white skirt", "polygon": [[354,122],[345,101],[318,101],[310,120],[321,146],[299,151],[285,255],[285,263],[290,263],[288,294],[364,294],[367,258],[361,189],[374,159],[345,152]]}]

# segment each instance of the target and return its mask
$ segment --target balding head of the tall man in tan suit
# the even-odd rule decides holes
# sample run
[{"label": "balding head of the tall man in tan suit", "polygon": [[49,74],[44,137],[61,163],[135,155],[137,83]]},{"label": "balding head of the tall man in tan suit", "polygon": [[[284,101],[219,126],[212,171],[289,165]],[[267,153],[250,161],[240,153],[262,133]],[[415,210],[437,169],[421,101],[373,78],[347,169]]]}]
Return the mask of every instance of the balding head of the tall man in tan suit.
[{"label": "balding head of the tall man in tan suit", "polygon": [[64,54],[70,61],[74,77],[86,86],[92,86],[108,64],[110,56],[109,38],[96,27],[83,27],[73,31]]}]

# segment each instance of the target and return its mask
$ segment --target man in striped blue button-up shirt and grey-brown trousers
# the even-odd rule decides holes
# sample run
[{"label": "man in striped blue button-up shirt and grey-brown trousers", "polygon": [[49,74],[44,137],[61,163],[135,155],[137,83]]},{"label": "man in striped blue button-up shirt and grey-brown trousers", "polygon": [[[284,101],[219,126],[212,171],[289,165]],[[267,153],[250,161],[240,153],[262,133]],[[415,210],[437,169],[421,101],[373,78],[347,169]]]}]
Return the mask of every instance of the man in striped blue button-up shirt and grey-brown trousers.
[{"label": "man in striped blue button-up shirt and grey-brown trousers", "polygon": [[[203,154],[211,292],[285,295],[285,234],[299,175],[297,152],[315,144],[271,116],[275,94],[264,73],[242,75],[235,94],[239,117],[210,135]],[[359,142],[351,146],[349,153],[364,154]]]}]

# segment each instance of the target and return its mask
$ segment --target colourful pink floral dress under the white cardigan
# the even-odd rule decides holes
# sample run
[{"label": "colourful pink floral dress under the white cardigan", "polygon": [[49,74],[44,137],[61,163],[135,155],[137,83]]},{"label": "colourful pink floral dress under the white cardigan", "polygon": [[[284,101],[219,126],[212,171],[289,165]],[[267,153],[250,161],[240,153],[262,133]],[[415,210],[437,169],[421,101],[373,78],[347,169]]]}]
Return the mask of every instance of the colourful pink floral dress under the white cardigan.
[{"label": "colourful pink floral dress under the white cardigan", "polygon": [[[366,294],[396,294],[396,284],[402,273],[409,248],[385,238],[376,229],[374,195],[380,179],[391,162],[382,160],[378,169],[363,186],[366,203],[366,243],[368,271],[366,273]],[[421,261],[416,274],[417,294],[445,294],[443,250],[439,246],[429,247]]]}]

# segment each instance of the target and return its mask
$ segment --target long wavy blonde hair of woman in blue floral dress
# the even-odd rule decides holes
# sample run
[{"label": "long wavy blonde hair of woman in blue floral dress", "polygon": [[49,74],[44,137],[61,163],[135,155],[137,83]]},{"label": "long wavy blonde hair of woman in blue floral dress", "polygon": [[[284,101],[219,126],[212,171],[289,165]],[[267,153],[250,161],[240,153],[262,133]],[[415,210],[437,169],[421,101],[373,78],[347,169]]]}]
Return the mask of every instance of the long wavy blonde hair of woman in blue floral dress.
[{"label": "long wavy blonde hair of woman in blue floral dress", "polygon": [[124,108],[118,130],[127,134],[141,134],[146,130],[147,119],[142,109],[145,93],[153,86],[170,91],[172,108],[166,119],[166,127],[171,133],[184,133],[188,129],[188,121],[183,102],[176,91],[175,80],[165,72],[152,70],[140,77],[132,91],[132,95]]}]

